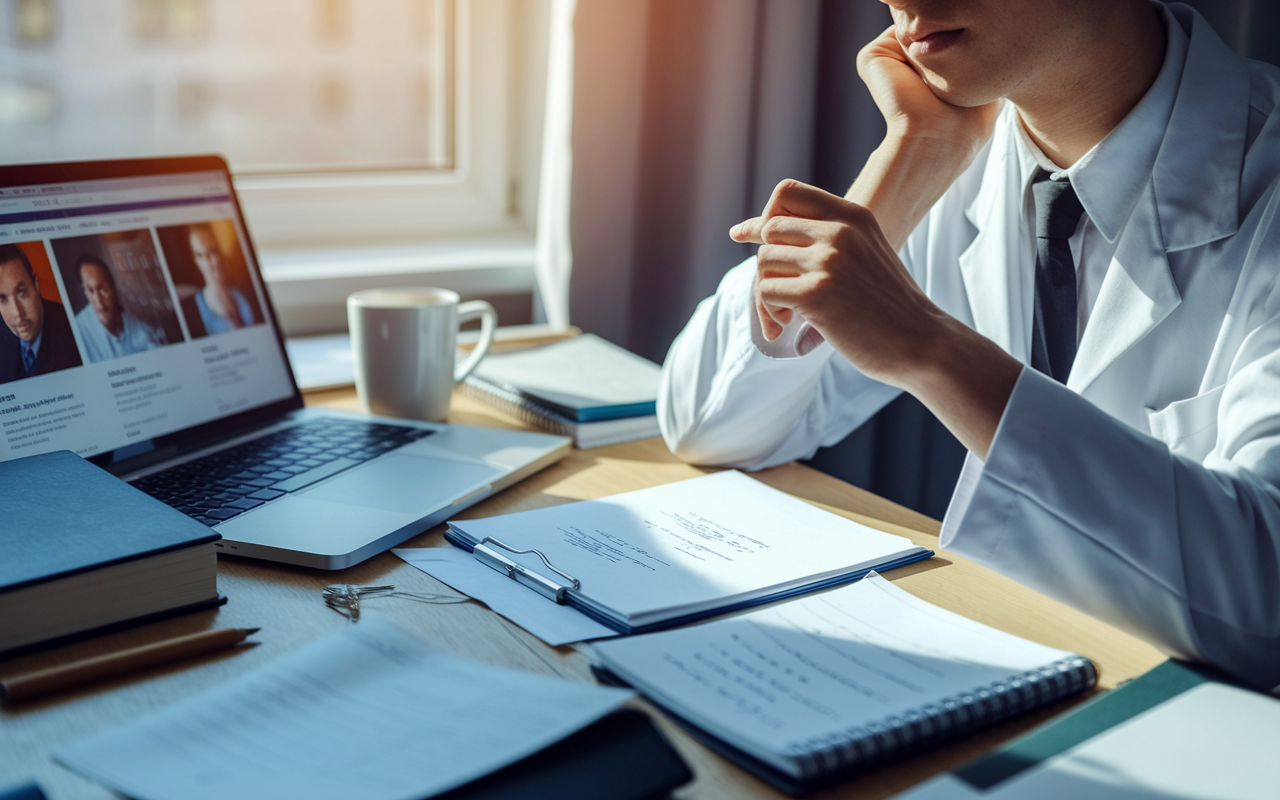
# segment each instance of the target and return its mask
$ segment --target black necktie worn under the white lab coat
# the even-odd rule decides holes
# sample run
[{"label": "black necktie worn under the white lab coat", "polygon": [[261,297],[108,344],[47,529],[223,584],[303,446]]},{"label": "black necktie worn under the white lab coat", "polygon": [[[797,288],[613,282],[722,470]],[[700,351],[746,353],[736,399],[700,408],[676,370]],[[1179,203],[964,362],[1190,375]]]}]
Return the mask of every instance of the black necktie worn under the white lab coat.
[{"label": "black necktie worn under the white lab coat", "polygon": [[1068,239],[1084,214],[1066,178],[1053,180],[1043,169],[1032,179],[1036,200],[1036,321],[1032,366],[1066,383],[1075,361],[1075,264]]}]

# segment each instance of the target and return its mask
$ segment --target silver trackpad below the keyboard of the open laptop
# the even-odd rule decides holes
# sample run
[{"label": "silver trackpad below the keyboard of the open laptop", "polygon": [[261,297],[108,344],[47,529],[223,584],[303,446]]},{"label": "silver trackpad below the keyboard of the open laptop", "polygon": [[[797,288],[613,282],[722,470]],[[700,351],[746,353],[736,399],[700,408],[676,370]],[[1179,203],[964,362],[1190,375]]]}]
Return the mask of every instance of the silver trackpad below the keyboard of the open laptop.
[{"label": "silver trackpad below the keyboard of the open laptop", "polygon": [[483,463],[388,456],[301,494],[334,503],[425,513],[506,475]]}]

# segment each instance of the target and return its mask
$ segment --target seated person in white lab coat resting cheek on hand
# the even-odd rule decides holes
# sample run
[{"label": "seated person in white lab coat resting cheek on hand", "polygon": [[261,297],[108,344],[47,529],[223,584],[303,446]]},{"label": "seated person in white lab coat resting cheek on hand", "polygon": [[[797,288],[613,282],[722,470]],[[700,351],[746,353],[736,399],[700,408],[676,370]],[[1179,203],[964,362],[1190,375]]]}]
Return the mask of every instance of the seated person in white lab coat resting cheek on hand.
[{"label": "seated person in white lab coat resting cheek on hand", "polygon": [[[910,392],[970,451],[943,548],[1280,689],[1280,69],[1176,4],[886,1],[888,136],[733,228],[762,247],[672,346],[663,436],[763,468]],[[1065,366],[1028,366],[1062,308]]]}]

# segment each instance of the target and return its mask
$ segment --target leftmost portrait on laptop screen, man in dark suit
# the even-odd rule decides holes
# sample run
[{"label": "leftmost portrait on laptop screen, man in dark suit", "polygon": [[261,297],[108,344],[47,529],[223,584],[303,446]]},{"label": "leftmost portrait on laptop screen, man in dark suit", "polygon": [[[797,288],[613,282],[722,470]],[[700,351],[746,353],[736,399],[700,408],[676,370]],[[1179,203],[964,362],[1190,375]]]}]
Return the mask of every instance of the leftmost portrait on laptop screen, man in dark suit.
[{"label": "leftmost portrait on laptop screen, man in dark suit", "polygon": [[0,383],[81,366],[44,242],[0,244]]}]

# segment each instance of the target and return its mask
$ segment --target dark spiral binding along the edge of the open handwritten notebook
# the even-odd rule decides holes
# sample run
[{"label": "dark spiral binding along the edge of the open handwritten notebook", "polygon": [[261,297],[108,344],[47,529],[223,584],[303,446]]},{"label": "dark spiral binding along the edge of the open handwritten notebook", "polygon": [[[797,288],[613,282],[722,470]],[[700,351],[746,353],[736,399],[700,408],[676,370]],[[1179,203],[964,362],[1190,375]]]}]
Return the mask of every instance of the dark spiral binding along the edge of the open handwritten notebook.
[{"label": "dark spiral binding along the edge of the open handwritten notebook", "polygon": [[861,772],[1048,705],[1089,689],[1097,680],[1093,662],[1073,655],[877,723],[794,742],[788,751],[805,780]]}]

